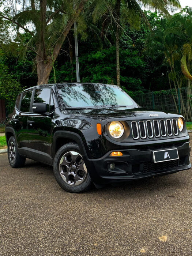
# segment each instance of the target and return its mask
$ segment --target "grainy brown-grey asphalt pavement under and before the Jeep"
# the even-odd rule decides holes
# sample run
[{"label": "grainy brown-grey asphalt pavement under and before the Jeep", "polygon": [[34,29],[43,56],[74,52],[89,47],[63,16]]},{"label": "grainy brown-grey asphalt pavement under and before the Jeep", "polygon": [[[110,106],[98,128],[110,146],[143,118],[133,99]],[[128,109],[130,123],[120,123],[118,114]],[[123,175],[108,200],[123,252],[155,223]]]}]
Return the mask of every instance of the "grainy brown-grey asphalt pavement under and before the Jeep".
[{"label": "grainy brown-grey asphalt pavement under and before the Jeep", "polygon": [[191,256],[192,169],[72,194],[1,154],[0,255]]}]

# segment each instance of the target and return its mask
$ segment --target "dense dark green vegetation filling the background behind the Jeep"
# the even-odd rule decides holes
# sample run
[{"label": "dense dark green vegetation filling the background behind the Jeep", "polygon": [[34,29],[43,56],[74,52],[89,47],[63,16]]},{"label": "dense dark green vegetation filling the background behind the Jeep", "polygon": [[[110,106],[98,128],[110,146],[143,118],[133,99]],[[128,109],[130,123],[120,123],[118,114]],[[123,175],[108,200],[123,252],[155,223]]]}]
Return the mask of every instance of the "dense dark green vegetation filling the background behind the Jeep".
[{"label": "dense dark green vegetation filling the background behind the Jeep", "polygon": [[[99,20],[97,27],[90,25],[92,32],[87,29],[86,33],[78,35],[81,82],[117,83],[113,27],[104,27],[101,36],[102,25]],[[82,22],[79,26],[85,25]],[[22,31],[15,34],[14,40],[6,41],[7,27],[9,24],[0,19],[0,31],[4,36],[3,40],[0,39],[0,98],[5,98],[10,106],[21,88],[36,85],[38,79],[35,52],[19,44],[21,38],[22,42],[29,44],[32,35]],[[191,97],[191,8],[184,8],[172,16],[144,11],[137,26],[131,22],[124,24],[119,53],[120,83],[129,94],[188,87]],[[76,81],[73,27],[52,64],[49,83],[54,79],[56,82]],[[190,106],[190,102],[188,104]],[[183,106],[185,112],[189,106]]]}]

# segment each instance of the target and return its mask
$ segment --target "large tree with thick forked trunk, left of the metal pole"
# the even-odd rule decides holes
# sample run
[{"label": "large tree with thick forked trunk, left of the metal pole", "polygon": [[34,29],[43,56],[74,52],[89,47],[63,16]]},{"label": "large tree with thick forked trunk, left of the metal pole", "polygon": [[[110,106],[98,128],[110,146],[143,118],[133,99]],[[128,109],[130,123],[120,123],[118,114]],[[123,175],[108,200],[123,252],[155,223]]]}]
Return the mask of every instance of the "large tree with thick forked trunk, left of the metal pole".
[{"label": "large tree with thick forked trunk, left of the metal pole", "polygon": [[[12,23],[19,39],[13,43],[23,46],[24,52],[30,49],[35,53],[38,84],[48,83],[50,71],[74,21],[82,19],[85,10],[90,15],[94,11],[92,7],[98,6],[97,0],[23,0],[19,11],[17,2],[9,1],[5,12],[0,12],[0,18]],[[31,35],[27,43],[22,40],[20,29]]]}]

